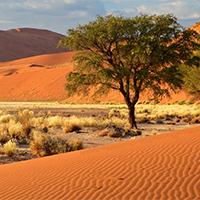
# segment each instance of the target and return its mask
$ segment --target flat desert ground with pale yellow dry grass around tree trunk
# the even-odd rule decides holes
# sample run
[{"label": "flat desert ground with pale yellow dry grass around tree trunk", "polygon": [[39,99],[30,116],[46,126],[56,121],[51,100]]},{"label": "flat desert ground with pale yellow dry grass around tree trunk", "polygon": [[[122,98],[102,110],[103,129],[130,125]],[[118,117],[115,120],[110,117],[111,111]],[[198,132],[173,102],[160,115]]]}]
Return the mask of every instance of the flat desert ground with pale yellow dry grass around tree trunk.
[{"label": "flat desert ground with pale yellow dry grass around tree trunk", "polygon": [[[33,112],[29,118],[31,131],[40,130],[45,134],[58,135],[67,141],[80,140],[84,149],[103,146],[107,144],[145,138],[159,135],[169,131],[181,130],[199,126],[200,115],[198,104],[192,105],[138,105],[137,123],[140,133],[137,131],[127,133],[128,110],[125,104],[60,104],[58,102],[0,102],[1,131],[10,134],[10,126],[13,126],[12,116],[16,117],[24,111]],[[157,110],[157,111],[156,111]],[[152,111],[156,111],[152,113]],[[149,113],[149,114],[147,114]],[[173,114],[172,114],[173,113]],[[184,114],[186,113],[186,114]],[[176,116],[176,117],[175,117]],[[179,118],[177,117],[179,116]],[[27,117],[27,116],[26,116]],[[10,121],[7,118],[11,118]],[[6,121],[7,120],[7,121]],[[43,120],[38,125],[38,120]],[[46,121],[45,121],[46,120]],[[51,120],[51,121],[50,121]],[[75,120],[80,125],[80,130],[65,133],[63,127],[65,121]],[[88,121],[83,123],[83,121]],[[19,122],[14,122],[17,125]],[[22,124],[24,122],[21,122]],[[16,127],[17,129],[17,127]],[[111,135],[111,133],[116,135]],[[123,135],[124,134],[124,135]],[[1,134],[0,134],[1,136]],[[3,136],[1,136],[3,137]],[[2,140],[0,137],[0,140]],[[3,141],[3,140],[2,140]],[[29,160],[40,157],[34,155],[29,142],[19,142],[14,156],[5,153],[0,155],[0,164],[8,164],[17,161]]]}]

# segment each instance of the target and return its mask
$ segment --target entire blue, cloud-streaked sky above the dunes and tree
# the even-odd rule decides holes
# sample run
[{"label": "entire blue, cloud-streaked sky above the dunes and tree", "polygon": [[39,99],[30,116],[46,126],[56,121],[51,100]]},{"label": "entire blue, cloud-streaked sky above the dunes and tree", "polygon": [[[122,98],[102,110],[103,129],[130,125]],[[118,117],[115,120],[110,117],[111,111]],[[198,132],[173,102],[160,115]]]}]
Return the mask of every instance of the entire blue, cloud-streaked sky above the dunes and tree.
[{"label": "entire blue, cloud-streaked sky above the dunes and tree", "polygon": [[174,14],[181,25],[200,21],[200,0],[0,0],[0,30],[47,29],[66,35],[97,15]]}]

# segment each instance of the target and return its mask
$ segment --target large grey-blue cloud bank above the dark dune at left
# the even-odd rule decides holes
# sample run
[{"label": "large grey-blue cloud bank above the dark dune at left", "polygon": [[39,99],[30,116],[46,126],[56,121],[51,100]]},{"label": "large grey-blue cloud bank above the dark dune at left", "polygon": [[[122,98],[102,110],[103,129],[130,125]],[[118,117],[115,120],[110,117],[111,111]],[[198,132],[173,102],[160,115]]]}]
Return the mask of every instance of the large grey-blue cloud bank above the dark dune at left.
[{"label": "large grey-blue cloud bank above the dark dune at left", "polygon": [[97,14],[105,15],[101,0],[1,0],[1,29],[33,27],[65,33],[85,24]]}]

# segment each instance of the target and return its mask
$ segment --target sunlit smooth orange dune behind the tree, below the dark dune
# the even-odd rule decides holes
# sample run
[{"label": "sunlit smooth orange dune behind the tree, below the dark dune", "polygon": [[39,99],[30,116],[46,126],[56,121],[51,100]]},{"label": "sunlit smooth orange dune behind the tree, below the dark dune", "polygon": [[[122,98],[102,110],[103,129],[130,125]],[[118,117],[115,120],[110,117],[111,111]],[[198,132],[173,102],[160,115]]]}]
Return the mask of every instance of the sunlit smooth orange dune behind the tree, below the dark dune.
[{"label": "sunlit smooth orange dune behind the tree, below the dark dune", "polygon": [[[91,96],[67,98],[64,84],[67,73],[73,70],[71,59],[74,54],[46,54],[0,63],[0,101],[95,102]],[[140,100],[148,100],[150,97],[141,95]],[[189,96],[181,92],[163,102],[187,99]],[[122,95],[116,91],[98,101],[124,102]]]}]

